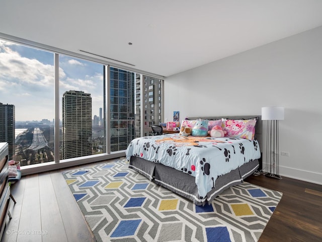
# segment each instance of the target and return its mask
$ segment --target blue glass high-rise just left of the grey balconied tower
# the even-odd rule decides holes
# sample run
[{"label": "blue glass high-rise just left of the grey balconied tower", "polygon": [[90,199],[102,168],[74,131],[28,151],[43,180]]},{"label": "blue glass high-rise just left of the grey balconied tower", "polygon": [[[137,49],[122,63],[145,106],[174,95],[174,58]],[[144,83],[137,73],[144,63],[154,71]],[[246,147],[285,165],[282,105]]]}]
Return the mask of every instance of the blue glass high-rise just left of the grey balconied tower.
[{"label": "blue glass high-rise just left of the grey balconied tower", "polygon": [[126,150],[134,138],[134,73],[110,68],[111,151]]}]

